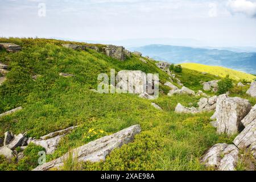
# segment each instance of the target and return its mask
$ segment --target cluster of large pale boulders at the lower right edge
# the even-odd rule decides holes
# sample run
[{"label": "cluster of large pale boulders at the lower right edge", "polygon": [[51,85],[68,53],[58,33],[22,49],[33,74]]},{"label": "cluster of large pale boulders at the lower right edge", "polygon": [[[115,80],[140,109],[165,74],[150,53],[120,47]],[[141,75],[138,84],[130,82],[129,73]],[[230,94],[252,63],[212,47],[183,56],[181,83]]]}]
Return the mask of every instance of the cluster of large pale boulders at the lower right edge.
[{"label": "cluster of large pale boulders at the lower right edge", "polygon": [[249,150],[256,159],[256,105],[239,97],[223,94],[216,102],[216,112],[212,119],[217,119],[217,133],[234,135],[233,144],[219,143],[204,155],[205,166],[221,171],[234,171],[240,150]]}]

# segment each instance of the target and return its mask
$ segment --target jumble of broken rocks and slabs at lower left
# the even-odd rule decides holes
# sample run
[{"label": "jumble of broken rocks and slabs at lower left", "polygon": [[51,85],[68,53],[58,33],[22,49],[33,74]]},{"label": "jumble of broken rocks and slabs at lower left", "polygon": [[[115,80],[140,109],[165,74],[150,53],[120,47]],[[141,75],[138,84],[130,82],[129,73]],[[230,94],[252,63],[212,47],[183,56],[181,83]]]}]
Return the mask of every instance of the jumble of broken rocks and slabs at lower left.
[{"label": "jumble of broken rocks and slabs at lower left", "polygon": [[[57,149],[60,139],[76,127],[77,126],[56,131],[48,135],[44,135],[43,137],[40,137],[40,139],[27,138],[26,133],[14,135],[10,131],[7,131],[5,133],[5,139],[0,139],[0,155],[5,156],[6,159],[16,158],[20,160],[24,157],[24,149],[26,149],[30,143],[44,147],[46,149],[46,154],[53,154]],[[16,150],[17,147],[20,147],[19,152]]]}]

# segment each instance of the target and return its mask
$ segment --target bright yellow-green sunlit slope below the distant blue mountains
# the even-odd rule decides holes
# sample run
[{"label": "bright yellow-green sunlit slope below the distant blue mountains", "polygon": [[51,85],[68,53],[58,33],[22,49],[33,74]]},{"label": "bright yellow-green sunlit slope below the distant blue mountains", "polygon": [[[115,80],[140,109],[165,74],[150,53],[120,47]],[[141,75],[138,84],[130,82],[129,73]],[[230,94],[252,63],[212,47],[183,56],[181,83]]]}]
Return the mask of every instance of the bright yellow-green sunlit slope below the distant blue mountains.
[{"label": "bright yellow-green sunlit slope below the distant blue mountains", "polygon": [[199,72],[207,72],[212,75],[218,75],[220,77],[226,77],[229,75],[230,78],[234,80],[246,80],[252,81],[255,80],[256,76],[250,75],[248,73],[243,73],[236,71],[234,69],[218,67],[218,66],[208,66],[204,64],[197,64],[197,63],[183,63],[181,64],[183,68],[193,69]]}]

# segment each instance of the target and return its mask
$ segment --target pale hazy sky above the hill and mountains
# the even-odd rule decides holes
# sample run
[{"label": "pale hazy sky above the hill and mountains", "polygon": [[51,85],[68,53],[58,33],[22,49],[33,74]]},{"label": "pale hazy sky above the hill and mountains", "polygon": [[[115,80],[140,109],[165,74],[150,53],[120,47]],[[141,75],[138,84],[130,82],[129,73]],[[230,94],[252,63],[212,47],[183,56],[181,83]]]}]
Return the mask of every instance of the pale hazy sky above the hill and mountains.
[{"label": "pale hazy sky above the hill and mountains", "polygon": [[0,0],[0,36],[256,47],[256,0]]}]

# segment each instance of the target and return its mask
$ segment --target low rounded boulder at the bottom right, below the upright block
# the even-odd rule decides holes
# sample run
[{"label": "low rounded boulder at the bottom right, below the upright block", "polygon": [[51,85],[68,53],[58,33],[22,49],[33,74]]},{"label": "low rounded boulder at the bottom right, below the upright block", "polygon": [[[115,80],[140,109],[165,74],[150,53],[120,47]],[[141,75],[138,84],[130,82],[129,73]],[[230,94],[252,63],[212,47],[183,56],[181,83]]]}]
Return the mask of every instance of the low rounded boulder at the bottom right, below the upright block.
[{"label": "low rounded boulder at the bottom right, below the upright block", "polygon": [[239,150],[233,144],[215,144],[204,155],[202,163],[219,171],[234,171],[238,160]]}]

